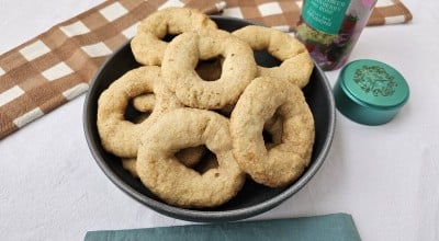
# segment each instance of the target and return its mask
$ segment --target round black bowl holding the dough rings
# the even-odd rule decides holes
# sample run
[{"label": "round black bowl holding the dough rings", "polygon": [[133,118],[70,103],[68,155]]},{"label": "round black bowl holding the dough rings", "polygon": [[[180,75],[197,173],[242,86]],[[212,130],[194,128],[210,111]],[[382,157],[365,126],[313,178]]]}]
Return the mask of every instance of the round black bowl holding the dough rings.
[{"label": "round black bowl holding the dough rings", "polygon": [[[212,16],[212,19],[219,28],[230,32],[255,24],[232,18]],[[268,67],[278,64],[267,53],[256,53],[255,56],[259,65]],[[270,188],[248,180],[235,198],[216,208],[184,209],[168,205],[151,194],[138,179],[125,171],[120,159],[102,148],[98,135],[99,95],[114,80],[138,66],[131,51],[130,43],[123,45],[105,61],[92,80],[86,97],[83,128],[90,151],[106,176],[126,194],[160,214],[189,221],[207,222],[239,220],[264,213],[301,190],[317,172],[329,151],[335,129],[335,104],[329,82],[325,73],[316,66],[308,85],[303,90],[315,119],[315,144],[311,164],[297,181],[282,188]]]}]

